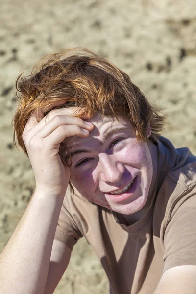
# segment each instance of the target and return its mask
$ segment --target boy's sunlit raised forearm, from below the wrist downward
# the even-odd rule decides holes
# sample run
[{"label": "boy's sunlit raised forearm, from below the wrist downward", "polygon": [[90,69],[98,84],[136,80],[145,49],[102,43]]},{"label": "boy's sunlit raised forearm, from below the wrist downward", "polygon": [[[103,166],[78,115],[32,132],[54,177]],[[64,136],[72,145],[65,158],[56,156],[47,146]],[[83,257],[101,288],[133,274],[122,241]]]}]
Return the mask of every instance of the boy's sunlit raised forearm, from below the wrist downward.
[{"label": "boy's sunlit raised forearm, from below the wrist downward", "polygon": [[64,196],[35,192],[0,255],[3,294],[43,294]]}]

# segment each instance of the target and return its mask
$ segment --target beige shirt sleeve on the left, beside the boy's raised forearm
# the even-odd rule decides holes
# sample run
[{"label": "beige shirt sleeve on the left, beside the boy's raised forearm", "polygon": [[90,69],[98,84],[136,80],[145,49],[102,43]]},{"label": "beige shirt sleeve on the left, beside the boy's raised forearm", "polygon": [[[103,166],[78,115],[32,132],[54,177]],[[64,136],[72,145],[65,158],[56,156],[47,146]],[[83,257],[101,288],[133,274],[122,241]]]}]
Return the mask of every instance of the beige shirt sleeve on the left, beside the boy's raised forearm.
[{"label": "beige shirt sleeve on the left, beside the boy's raised forearm", "polygon": [[70,189],[67,189],[54,236],[54,239],[65,243],[71,250],[77,240],[82,237],[74,219],[75,211],[72,197],[74,195]]}]

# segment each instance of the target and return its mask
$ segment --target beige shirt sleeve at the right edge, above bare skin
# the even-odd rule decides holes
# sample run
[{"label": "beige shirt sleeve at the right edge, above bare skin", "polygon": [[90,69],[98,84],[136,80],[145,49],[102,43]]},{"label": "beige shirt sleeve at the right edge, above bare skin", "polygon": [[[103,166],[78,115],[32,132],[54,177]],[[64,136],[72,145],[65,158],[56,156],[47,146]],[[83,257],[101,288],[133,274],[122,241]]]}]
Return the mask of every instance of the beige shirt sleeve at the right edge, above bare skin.
[{"label": "beige shirt sleeve at the right edge, above bare skin", "polygon": [[180,265],[196,265],[196,189],[179,199],[165,229],[164,271]]}]

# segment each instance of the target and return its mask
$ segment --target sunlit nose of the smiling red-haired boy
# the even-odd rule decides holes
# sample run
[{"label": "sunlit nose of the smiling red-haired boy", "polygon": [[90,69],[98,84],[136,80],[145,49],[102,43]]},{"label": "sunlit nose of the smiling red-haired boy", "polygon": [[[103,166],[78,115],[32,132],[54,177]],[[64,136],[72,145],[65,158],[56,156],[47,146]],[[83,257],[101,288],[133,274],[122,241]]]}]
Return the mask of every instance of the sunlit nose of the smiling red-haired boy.
[{"label": "sunlit nose of the smiling red-haired boy", "polygon": [[124,166],[115,160],[112,155],[99,155],[99,180],[103,182],[116,183],[121,179]]}]

